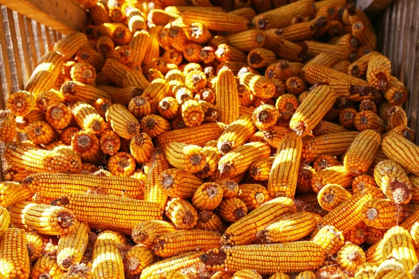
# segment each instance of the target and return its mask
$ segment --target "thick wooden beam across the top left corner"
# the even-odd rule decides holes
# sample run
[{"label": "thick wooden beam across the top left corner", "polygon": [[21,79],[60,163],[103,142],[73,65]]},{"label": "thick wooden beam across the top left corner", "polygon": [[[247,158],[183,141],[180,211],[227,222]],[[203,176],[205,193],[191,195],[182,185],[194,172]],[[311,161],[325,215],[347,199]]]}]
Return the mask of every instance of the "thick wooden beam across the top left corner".
[{"label": "thick wooden beam across the top left corner", "polygon": [[71,0],[0,0],[0,4],[64,34],[82,31],[86,10]]}]

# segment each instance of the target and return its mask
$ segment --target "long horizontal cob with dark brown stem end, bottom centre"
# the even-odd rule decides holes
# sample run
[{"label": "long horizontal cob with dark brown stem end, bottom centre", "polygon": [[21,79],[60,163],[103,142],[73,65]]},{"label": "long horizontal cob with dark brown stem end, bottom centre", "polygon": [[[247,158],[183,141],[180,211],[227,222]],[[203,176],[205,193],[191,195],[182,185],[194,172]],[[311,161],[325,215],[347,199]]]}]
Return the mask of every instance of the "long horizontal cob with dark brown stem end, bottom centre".
[{"label": "long horizontal cob with dark brown stem end, bottom centre", "polygon": [[[307,257],[298,257],[293,264],[289,264],[290,257],[295,252],[304,253]],[[280,252],[279,252],[280,251]],[[280,253],[280,257],[272,257],[271,253]],[[277,254],[278,255],[278,254]],[[241,257],[242,261],[237,260]],[[256,259],[266,257],[271,259],[259,265]],[[262,274],[271,274],[282,270],[284,272],[298,272],[305,269],[317,269],[324,262],[323,249],[315,243],[301,241],[298,243],[261,244],[247,246],[233,246],[214,249],[200,256],[200,260],[212,269],[228,269],[238,271],[243,268],[254,269]],[[288,265],[288,264],[289,265]]]}]

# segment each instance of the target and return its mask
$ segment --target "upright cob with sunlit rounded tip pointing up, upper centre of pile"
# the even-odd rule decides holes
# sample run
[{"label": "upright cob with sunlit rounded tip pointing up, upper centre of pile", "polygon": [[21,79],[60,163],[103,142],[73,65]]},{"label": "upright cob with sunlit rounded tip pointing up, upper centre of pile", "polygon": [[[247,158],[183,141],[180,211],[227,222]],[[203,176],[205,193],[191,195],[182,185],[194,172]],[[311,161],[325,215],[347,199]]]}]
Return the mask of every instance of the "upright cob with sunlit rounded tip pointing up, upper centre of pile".
[{"label": "upright cob with sunlit rounded tip pointing up, upper centre of pile", "polygon": [[230,124],[239,116],[239,98],[235,78],[231,70],[219,70],[216,82],[216,110],[219,111],[219,121]]}]

